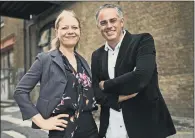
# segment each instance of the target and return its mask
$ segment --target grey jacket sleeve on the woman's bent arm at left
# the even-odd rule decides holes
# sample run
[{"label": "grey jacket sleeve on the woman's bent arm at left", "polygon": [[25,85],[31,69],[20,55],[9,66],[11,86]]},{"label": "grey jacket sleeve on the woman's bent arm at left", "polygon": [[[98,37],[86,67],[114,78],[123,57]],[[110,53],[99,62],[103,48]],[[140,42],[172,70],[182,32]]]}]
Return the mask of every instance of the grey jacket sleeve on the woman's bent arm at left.
[{"label": "grey jacket sleeve on the woman's bent arm at left", "polygon": [[41,74],[41,55],[38,54],[31,68],[17,84],[14,92],[14,99],[20,108],[23,120],[30,119],[39,113],[35,105],[30,100],[30,92],[40,80]]}]

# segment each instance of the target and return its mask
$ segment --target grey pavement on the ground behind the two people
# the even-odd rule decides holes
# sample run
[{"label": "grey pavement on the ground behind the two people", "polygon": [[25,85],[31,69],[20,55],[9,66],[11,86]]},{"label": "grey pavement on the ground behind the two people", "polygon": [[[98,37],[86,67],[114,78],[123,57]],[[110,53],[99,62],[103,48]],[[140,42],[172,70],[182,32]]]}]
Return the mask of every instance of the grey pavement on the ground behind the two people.
[{"label": "grey pavement on the ground behind the two people", "polygon": [[[23,121],[18,106],[13,100],[1,101],[1,137],[2,138],[48,138],[48,131],[31,128],[31,121]],[[172,116],[177,134],[168,138],[193,138],[194,120]],[[96,117],[99,126],[99,120]]]}]

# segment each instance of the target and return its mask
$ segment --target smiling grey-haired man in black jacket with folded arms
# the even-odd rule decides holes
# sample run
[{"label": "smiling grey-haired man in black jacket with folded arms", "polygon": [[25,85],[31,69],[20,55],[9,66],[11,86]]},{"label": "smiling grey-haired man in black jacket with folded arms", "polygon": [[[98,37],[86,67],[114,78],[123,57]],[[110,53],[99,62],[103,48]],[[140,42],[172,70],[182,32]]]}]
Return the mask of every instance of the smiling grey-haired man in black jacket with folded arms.
[{"label": "smiling grey-haired man in black jacket with folded arms", "polygon": [[96,14],[106,43],[92,54],[92,84],[101,105],[101,138],[165,138],[176,133],[158,86],[154,40],[124,30],[122,10]]}]

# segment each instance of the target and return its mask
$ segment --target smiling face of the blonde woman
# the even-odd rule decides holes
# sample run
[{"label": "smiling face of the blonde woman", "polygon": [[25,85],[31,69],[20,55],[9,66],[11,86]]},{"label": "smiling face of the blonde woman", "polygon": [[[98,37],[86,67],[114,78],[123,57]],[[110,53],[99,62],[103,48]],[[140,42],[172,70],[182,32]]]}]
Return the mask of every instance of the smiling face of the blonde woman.
[{"label": "smiling face of the blonde woman", "polygon": [[76,18],[66,15],[58,24],[56,35],[60,45],[65,47],[75,47],[80,39],[80,27]]}]

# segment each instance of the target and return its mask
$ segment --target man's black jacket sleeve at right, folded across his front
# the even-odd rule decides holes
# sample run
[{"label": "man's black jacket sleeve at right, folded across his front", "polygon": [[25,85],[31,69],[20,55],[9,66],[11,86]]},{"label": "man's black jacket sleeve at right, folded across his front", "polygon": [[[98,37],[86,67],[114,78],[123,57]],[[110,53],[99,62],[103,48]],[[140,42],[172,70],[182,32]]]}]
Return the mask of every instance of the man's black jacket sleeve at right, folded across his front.
[{"label": "man's black jacket sleeve at right, folded across his front", "polygon": [[120,95],[140,92],[152,78],[156,66],[155,56],[154,40],[150,34],[146,33],[140,39],[136,55],[136,70],[127,72],[114,79],[106,80],[104,89],[108,90],[118,87],[120,88]]}]

